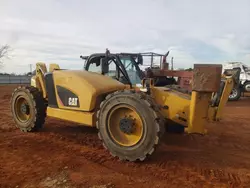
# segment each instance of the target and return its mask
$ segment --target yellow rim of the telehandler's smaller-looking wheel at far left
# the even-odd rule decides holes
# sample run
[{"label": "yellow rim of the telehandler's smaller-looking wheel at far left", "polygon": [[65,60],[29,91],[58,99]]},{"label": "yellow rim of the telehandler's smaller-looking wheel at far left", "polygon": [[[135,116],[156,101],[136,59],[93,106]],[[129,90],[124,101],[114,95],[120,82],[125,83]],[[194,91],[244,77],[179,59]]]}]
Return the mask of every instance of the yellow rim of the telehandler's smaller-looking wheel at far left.
[{"label": "yellow rim of the telehandler's smaller-looking wheel at far left", "polygon": [[24,97],[20,96],[16,99],[14,109],[20,122],[25,123],[30,119],[30,106]]}]

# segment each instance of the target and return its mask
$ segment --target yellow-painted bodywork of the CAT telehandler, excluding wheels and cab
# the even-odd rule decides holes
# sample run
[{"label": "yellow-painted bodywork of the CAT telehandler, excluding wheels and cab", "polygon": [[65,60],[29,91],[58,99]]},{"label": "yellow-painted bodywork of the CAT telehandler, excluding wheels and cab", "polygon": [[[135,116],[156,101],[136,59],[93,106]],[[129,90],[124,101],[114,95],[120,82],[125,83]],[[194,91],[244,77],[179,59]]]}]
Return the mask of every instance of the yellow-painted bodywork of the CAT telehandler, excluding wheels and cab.
[{"label": "yellow-painted bodywork of the CAT telehandler, excluding wheels and cab", "polygon": [[[87,126],[95,126],[95,113],[97,106],[104,99],[103,97],[111,92],[130,88],[128,85],[98,73],[57,69],[59,69],[59,66],[56,64],[51,64],[49,68],[50,74],[53,73],[51,79],[53,80],[54,91],[51,90],[51,87],[46,87],[46,82],[50,81],[46,80],[45,82],[47,69],[42,63],[37,64],[37,74],[31,81],[32,85],[39,88],[44,98],[48,100],[48,116],[82,123]],[[154,87],[151,84],[150,95],[161,107],[160,112],[167,123],[182,125],[186,127],[187,133],[205,134],[205,124],[208,121],[221,119],[228,96],[234,86],[232,77],[224,77],[224,79],[225,86],[218,105],[211,105],[212,97],[215,94],[212,91],[192,91],[190,95],[167,87]],[[50,91],[48,88],[50,88]],[[51,97],[48,96],[53,92],[56,107],[50,105]],[[65,101],[65,99],[62,99],[62,93],[72,94],[72,96],[67,96]],[[67,101],[69,98],[73,98],[73,101]],[[75,99],[77,104],[74,101]],[[70,102],[73,105],[67,105]]]}]

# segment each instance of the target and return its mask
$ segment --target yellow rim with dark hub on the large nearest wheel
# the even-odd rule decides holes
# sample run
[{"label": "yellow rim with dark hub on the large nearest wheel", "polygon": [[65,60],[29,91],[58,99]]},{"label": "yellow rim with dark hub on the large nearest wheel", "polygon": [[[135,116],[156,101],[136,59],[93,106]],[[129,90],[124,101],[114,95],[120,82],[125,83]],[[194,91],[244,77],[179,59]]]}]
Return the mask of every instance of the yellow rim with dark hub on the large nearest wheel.
[{"label": "yellow rim with dark hub on the large nearest wheel", "polygon": [[140,115],[130,106],[118,105],[108,116],[108,132],[119,145],[134,146],[142,138],[143,121]]}]

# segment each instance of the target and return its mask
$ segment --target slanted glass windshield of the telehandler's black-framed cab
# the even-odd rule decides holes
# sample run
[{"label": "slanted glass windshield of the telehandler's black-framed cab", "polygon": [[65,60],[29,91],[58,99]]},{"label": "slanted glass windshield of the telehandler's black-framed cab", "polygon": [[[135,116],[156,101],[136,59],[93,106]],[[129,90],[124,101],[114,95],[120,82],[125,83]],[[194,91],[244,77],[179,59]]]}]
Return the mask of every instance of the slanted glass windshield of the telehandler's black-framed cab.
[{"label": "slanted glass windshield of the telehandler's black-framed cab", "polygon": [[138,75],[138,71],[134,65],[131,57],[120,57],[122,64],[124,65],[132,85],[141,84],[141,79]]}]

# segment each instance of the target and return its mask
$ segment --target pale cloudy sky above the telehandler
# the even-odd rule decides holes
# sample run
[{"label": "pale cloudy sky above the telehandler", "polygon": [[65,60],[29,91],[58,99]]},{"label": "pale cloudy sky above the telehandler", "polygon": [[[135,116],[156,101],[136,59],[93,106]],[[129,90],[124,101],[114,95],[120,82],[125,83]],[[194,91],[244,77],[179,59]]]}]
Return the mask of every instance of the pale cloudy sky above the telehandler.
[{"label": "pale cloudy sky above the telehandler", "polygon": [[175,68],[241,61],[250,65],[249,0],[0,0],[0,72],[30,64],[82,69],[80,55],[166,53]]}]

